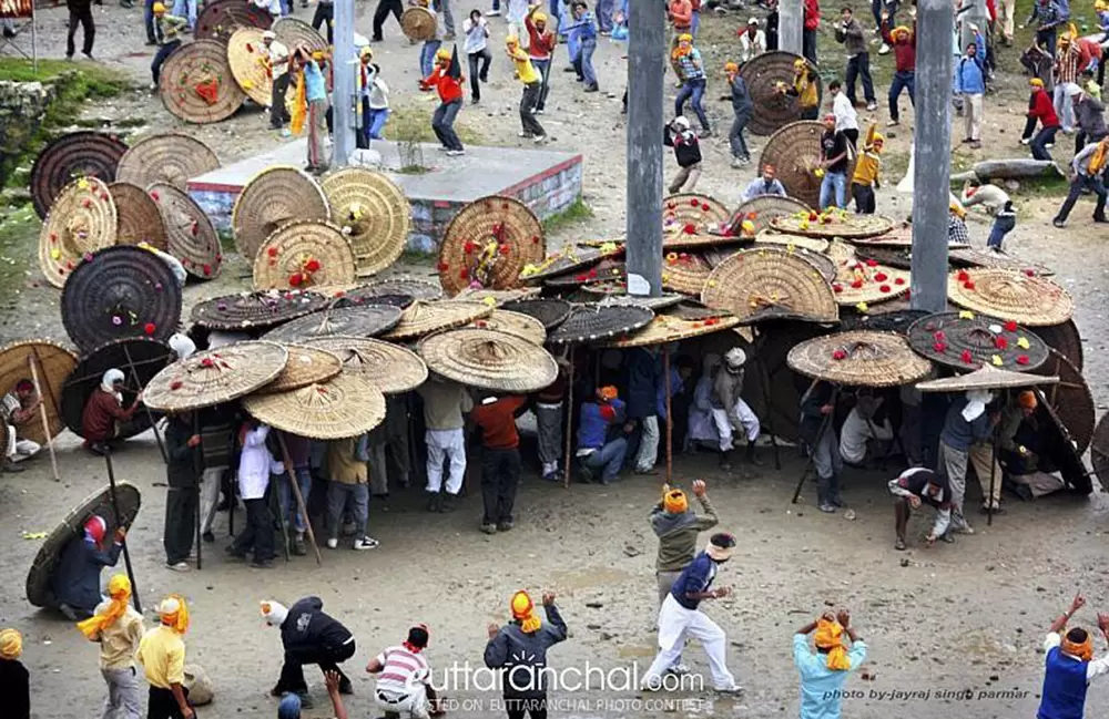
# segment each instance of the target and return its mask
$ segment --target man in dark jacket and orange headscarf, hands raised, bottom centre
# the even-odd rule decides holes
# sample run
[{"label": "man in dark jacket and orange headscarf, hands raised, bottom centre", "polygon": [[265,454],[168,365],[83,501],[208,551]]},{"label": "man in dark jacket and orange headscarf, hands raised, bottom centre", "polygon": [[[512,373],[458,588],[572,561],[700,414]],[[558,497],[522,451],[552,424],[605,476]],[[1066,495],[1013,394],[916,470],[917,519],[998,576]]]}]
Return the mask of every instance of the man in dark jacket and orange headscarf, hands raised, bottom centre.
[{"label": "man in dark jacket and orange headscarf, hands raised, bottom centre", "polygon": [[532,719],[547,716],[547,650],[567,637],[566,622],[554,606],[554,595],[543,593],[545,623],[527,592],[517,592],[509,603],[512,622],[489,625],[485,662],[502,672],[505,708],[509,717]]}]

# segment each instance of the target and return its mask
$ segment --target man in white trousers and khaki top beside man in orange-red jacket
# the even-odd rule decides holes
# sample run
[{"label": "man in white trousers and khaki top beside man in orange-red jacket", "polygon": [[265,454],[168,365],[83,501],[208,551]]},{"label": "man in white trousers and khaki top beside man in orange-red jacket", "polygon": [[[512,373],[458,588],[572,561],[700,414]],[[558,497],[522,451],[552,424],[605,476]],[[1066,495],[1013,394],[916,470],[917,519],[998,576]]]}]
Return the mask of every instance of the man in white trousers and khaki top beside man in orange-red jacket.
[{"label": "man in white trousers and khaki top beside man in orange-red jacket", "polygon": [[[465,387],[434,373],[416,391],[424,399],[424,423],[427,425],[427,511],[454,512],[454,497],[458,496],[466,476],[462,414],[474,409],[474,400]],[[444,460],[450,462],[446,493],[442,492]]]}]

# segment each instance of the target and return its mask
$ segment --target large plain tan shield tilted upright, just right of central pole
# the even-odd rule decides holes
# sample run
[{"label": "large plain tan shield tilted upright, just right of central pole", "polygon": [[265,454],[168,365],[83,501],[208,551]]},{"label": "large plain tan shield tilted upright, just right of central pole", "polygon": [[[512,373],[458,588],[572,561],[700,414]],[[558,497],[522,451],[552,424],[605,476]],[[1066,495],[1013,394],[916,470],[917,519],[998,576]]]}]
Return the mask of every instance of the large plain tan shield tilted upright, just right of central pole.
[{"label": "large plain tan shield tilted upright, just right of central pole", "polygon": [[834,322],[840,318],[828,281],[784,247],[737,251],[712,270],[701,302],[725,309],[741,321],[781,317]]}]

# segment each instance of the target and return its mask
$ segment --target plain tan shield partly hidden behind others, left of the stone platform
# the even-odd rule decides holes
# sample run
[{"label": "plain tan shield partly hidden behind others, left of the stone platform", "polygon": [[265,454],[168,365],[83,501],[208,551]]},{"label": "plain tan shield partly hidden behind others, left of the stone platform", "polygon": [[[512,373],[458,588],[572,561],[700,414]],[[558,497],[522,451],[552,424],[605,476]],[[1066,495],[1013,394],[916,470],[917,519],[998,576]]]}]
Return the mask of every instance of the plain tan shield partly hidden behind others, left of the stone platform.
[{"label": "plain tan shield partly hidden behind others, left of the stone platform", "polygon": [[190,179],[218,167],[215,152],[196,137],[164,132],[133,144],[120,160],[115,178],[140,187],[166,183],[184,192]]}]

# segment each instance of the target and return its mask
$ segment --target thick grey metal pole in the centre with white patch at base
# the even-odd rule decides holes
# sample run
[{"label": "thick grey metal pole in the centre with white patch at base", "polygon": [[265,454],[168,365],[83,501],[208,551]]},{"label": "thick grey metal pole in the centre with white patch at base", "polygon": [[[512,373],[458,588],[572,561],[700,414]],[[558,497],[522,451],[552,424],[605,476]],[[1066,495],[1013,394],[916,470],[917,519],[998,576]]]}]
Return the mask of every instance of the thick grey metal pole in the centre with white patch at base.
[{"label": "thick grey metal pole in the centre with white patch at base", "polygon": [[667,6],[664,0],[635,0],[628,16],[628,292],[658,297]]}]

